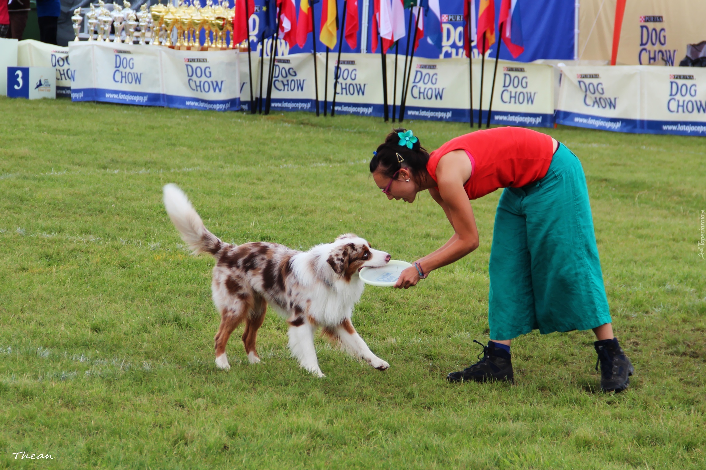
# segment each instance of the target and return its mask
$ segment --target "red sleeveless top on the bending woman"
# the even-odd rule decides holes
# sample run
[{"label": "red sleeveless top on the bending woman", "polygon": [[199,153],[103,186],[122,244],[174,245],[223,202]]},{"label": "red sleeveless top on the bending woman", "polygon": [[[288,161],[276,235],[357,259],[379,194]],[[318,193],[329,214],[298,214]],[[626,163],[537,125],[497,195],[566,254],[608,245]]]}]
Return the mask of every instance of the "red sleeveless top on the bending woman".
[{"label": "red sleeveless top on the bending woman", "polygon": [[436,181],[439,159],[453,150],[465,150],[473,163],[463,185],[468,199],[478,199],[500,187],[522,187],[544,178],[554,144],[551,137],[525,128],[477,130],[449,140],[431,152],[426,171]]}]

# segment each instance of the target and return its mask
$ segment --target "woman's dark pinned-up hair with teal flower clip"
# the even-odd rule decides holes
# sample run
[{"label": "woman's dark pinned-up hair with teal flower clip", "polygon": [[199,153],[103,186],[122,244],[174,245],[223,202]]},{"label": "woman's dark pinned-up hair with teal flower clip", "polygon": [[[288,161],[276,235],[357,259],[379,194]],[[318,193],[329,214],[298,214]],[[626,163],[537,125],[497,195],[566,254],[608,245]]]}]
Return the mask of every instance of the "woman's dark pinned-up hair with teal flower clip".
[{"label": "woman's dark pinned-up hair with teal flower clip", "polygon": [[[370,161],[370,173],[382,173],[388,178],[392,178],[400,168],[409,168],[414,179],[419,179],[422,172],[426,171],[426,162],[429,161],[429,152],[421,147],[421,141],[417,137],[417,142],[409,149],[406,145],[400,145],[400,135],[398,132],[407,132],[407,129],[393,129],[385,142],[378,146],[378,150]],[[402,160],[400,162],[400,159]]]}]

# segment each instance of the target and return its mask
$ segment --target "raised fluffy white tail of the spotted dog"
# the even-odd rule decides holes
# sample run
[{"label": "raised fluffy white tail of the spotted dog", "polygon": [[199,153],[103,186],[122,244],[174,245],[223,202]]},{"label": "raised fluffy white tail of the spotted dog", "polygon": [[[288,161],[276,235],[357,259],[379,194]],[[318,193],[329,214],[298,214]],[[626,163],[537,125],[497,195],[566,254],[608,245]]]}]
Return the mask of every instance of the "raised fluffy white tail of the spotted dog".
[{"label": "raised fluffy white tail of the spotted dog", "polygon": [[164,208],[169,218],[181,233],[181,239],[189,244],[193,254],[210,253],[215,255],[225,245],[203,225],[201,217],[191,206],[189,198],[177,185],[164,186]]}]

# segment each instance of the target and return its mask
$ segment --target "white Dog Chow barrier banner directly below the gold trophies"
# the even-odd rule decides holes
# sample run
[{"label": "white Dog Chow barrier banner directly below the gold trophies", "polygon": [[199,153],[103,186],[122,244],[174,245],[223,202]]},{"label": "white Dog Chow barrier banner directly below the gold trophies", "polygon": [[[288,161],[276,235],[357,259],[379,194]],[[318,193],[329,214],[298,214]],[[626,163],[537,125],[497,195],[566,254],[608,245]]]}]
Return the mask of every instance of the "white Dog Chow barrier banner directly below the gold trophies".
[{"label": "white Dog Chow barrier banner directly below the gold trophies", "polygon": [[240,109],[238,51],[177,51],[162,54],[164,100],[170,108]]}]

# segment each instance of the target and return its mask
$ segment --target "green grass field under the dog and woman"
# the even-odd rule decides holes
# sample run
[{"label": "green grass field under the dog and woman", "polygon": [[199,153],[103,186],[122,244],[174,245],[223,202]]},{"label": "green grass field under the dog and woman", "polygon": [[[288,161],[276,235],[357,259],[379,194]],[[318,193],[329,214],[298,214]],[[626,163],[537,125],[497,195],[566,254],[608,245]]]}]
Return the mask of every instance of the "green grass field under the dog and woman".
[{"label": "green grass field under the dog and woman", "polygon": [[[544,130],[582,160],[630,389],[603,394],[590,332],[513,343],[516,385],[451,385],[488,340],[499,191],[481,246],[411,290],[367,287],[354,325],[385,372],[317,337],[317,379],[270,312],[262,364],[215,367],[213,259],[161,202],[177,183],[229,242],[308,249],[354,232],[412,261],[452,231],[429,194],[369,177],[381,119],[250,116],[0,99],[0,467],[706,466],[706,146],[698,137]],[[407,124],[407,123],[406,123]],[[467,125],[412,121],[434,149]],[[14,452],[54,459],[16,459]]]}]

